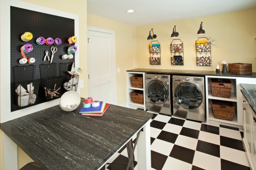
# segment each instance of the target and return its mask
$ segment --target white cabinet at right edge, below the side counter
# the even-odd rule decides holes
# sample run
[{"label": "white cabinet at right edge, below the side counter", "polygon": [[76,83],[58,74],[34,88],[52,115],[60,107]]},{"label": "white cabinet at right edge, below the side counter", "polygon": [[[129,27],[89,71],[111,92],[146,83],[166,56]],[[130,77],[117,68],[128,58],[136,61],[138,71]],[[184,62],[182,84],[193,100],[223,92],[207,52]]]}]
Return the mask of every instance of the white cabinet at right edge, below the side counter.
[{"label": "white cabinet at right edge, below the side counter", "polygon": [[244,109],[244,149],[253,170],[256,170],[256,115],[243,96]]}]

